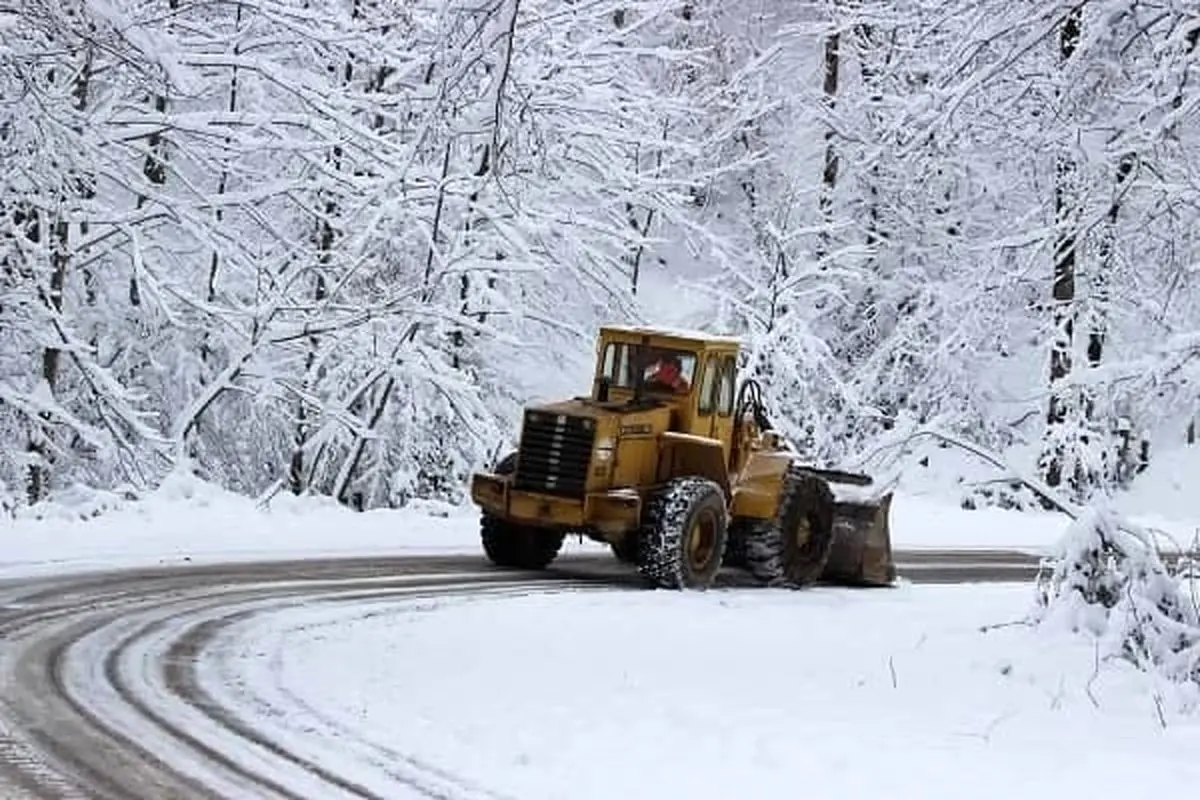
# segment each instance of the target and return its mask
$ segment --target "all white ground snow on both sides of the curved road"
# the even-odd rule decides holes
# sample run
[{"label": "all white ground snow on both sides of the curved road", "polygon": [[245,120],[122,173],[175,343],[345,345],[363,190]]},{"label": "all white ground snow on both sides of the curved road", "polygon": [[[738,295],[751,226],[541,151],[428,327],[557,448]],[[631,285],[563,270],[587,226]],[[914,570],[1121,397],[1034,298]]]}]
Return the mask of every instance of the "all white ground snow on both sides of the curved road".
[{"label": "all white ground snow on both sides of the curved road", "polygon": [[[1172,462],[1174,489],[1147,483],[1117,505],[1189,541],[1190,458]],[[1061,515],[966,511],[914,485],[893,505],[898,549],[1044,552],[1066,528]],[[476,531],[470,509],[355,513],[288,495],[259,507],[180,476],[142,500],[80,493],[4,523],[0,577],[479,554]],[[269,740],[397,800],[409,796],[397,780],[462,800],[1082,799],[1200,783],[1198,687],[1100,662],[1082,634],[1020,624],[1033,591],[463,583],[451,596],[275,604],[226,628],[198,669],[205,692]],[[151,687],[157,663],[144,658]]]}]

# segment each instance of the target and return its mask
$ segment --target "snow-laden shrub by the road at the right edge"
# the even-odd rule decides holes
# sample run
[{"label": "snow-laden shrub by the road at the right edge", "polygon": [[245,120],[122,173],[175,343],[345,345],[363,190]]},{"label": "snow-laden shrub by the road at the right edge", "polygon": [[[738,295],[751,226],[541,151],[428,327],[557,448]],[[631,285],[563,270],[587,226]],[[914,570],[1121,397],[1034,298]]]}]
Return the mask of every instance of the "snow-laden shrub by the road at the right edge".
[{"label": "snow-laden shrub by the road at the right edge", "polygon": [[1036,621],[1086,631],[1102,656],[1200,685],[1200,609],[1187,565],[1172,571],[1147,531],[1085,510],[1039,577]]}]

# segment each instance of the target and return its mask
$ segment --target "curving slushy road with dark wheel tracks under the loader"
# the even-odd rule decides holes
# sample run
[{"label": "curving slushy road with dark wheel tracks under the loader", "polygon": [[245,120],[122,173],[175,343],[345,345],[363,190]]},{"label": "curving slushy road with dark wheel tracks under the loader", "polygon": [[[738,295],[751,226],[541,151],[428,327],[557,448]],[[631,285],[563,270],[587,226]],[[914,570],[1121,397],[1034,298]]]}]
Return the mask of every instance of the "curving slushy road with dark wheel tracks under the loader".
[{"label": "curving slushy road with dark wheel tracks under the loader", "polygon": [[[898,552],[914,583],[1030,581],[1009,552]],[[748,582],[737,571],[720,585]],[[0,583],[0,796],[379,798],[269,741],[209,697],[199,655],[227,626],[295,603],[484,591],[641,585],[607,555],[546,572],[473,555],[362,558],[126,570]],[[481,795],[403,753],[389,777],[415,798]],[[396,796],[396,795],[389,795]]]}]

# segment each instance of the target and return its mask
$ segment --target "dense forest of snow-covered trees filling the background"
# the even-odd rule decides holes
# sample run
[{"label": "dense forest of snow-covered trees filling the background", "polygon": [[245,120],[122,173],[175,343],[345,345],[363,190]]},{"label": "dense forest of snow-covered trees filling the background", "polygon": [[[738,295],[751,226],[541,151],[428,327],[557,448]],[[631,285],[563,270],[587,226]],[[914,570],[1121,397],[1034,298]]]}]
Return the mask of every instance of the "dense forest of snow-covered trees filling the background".
[{"label": "dense forest of snow-covered trees filling the background", "polygon": [[0,160],[7,507],[457,501],[666,317],[816,463],[1196,439],[1194,0],[7,0]]}]

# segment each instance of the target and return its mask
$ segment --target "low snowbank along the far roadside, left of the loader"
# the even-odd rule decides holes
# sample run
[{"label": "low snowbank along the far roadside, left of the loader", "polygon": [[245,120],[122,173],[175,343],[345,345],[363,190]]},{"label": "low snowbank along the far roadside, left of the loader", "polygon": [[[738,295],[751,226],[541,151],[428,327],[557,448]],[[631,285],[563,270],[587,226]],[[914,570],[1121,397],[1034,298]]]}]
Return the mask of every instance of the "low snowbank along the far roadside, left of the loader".
[{"label": "low snowbank along the far roadside, left of the loader", "polygon": [[[473,521],[470,521],[473,522]],[[140,499],[76,492],[0,523],[0,575],[199,561],[462,552],[476,528],[425,504],[354,512],[322,498],[269,505],[175,475]]]}]

